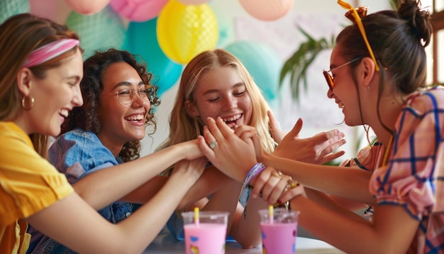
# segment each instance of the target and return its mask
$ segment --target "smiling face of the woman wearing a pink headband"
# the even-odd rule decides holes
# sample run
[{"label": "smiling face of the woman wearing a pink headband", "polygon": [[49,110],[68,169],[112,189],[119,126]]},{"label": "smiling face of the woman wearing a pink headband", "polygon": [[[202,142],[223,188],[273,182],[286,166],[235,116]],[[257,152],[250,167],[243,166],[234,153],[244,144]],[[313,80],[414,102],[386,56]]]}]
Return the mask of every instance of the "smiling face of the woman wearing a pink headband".
[{"label": "smiling face of the woman wearing a pink headband", "polygon": [[59,135],[69,111],[83,104],[79,87],[82,76],[80,50],[62,60],[60,66],[47,70],[43,79],[30,74],[29,95],[35,103],[30,111],[23,111],[23,119],[27,119],[23,129],[28,133]]}]

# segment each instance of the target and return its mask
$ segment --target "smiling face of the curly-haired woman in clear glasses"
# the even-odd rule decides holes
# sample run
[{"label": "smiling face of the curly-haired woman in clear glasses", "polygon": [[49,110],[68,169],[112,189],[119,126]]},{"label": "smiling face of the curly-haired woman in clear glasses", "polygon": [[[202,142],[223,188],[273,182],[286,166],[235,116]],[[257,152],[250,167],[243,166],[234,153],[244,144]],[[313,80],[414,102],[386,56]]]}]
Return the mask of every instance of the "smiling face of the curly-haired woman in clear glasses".
[{"label": "smiling face of the curly-haired woman in clear glasses", "polygon": [[[101,121],[100,140],[110,150],[120,151],[121,147],[133,140],[145,137],[145,121],[150,110],[150,101],[140,98],[137,91],[143,89],[138,72],[126,62],[116,62],[104,71],[104,90],[100,96],[97,111]],[[133,102],[128,105],[119,103],[116,92],[134,89]]]}]

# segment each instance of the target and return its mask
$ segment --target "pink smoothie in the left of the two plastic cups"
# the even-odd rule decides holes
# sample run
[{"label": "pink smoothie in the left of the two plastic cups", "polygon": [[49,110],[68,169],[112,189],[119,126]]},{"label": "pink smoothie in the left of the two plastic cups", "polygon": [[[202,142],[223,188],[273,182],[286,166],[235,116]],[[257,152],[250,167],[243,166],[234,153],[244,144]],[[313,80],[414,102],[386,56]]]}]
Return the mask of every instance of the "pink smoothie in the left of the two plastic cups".
[{"label": "pink smoothie in the left of the two plastic cups", "polygon": [[223,254],[227,227],[221,223],[184,225],[187,254]]}]

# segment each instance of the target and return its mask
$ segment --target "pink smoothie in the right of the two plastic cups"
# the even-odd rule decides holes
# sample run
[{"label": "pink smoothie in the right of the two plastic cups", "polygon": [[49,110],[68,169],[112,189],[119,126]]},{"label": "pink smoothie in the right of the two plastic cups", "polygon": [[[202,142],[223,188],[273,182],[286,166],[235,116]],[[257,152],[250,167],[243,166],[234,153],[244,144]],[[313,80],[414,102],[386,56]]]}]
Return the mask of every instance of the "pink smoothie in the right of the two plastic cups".
[{"label": "pink smoothie in the right of the two plastic cups", "polygon": [[296,253],[297,223],[260,223],[262,229],[262,253]]}]

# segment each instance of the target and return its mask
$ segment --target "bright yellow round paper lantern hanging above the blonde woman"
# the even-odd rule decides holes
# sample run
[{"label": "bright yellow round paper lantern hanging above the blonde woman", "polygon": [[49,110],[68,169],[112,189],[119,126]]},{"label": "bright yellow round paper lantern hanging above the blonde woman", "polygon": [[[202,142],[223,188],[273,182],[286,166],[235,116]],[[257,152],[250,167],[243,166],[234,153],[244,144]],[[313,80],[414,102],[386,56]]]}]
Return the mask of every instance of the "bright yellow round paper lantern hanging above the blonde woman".
[{"label": "bright yellow round paper lantern hanging above the blonde woman", "polygon": [[157,18],[157,41],[174,62],[186,64],[218,41],[216,15],[208,4],[184,5],[170,0]]}]

